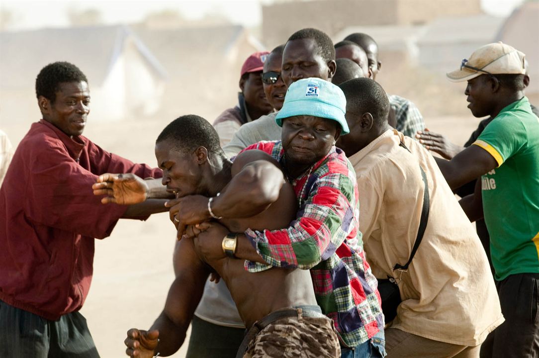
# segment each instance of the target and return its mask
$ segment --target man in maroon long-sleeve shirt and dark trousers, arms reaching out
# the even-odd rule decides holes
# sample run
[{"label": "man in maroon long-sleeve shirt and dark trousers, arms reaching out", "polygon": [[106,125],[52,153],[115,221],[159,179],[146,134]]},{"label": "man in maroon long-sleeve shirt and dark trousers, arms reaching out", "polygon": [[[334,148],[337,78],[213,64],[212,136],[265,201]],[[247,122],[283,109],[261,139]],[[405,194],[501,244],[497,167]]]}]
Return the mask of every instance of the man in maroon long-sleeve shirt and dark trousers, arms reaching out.
[{"label": "man in maroon long-sleeve shirt and dark trousers, arms reaching out", "polygon": [[0,189],[0,357],[95,358],[78,312],[92,280],[94,238],[109,236],[119,218],[167,208],[163,199],[104,206],[92,183],[109,172],[162,172],[82,136],[90,94],[77,66],[45,66],[36,94],[43,119],[20,142]]}]

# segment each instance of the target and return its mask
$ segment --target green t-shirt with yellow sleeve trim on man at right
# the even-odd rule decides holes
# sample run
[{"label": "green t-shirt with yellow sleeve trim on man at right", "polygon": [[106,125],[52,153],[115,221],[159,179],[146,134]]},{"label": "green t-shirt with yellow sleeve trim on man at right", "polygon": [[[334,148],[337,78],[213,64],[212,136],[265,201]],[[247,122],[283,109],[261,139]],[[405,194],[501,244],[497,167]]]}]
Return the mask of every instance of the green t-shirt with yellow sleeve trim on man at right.
[{"label": "green t-shirt with yellow sleeve trim on man at right", "polygon": [[528,99],[503,108],[473,144],[498,163],[481,176],[496,280],[539,273],[539,119]]}]

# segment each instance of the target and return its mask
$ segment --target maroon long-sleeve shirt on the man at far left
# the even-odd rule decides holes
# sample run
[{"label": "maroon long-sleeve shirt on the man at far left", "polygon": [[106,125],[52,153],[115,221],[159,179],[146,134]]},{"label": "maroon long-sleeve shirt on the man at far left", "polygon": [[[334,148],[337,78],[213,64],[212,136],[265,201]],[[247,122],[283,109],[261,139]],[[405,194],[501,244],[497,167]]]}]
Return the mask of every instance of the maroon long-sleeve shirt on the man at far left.
[{"label": "maroon long-sleeve shirt on the man at far left", "polygon": [[44,120],[32,124],[0,188],[1,300],[49,320],[82,307],[94,238],[109,236],[127,210],[93,195],[103,173],[162,176],[84,136],[71,138]]}]

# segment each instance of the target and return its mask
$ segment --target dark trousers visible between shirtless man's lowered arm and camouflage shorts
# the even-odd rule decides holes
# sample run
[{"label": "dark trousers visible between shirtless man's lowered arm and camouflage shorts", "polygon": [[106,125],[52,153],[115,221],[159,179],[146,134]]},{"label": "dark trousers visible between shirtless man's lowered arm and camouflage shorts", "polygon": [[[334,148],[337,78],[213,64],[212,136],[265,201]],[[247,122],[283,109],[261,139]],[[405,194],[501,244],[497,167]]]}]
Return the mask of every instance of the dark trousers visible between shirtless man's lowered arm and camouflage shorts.
[{"label": "dark trousers visible between shirtless man's lowered arm and camouflage shorts", "polygon": [[236,358],[245,328],[214,325],[193,316],[185,358]]}]

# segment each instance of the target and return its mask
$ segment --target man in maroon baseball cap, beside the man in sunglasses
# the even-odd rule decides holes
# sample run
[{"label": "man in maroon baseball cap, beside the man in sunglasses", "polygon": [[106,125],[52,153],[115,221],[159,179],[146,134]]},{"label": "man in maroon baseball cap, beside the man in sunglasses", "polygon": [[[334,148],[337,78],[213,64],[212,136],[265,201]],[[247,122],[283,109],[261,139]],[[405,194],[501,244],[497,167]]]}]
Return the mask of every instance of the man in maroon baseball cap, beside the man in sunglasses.
[{"label": "man in maroon baseball cap, beside the man in sunglasses", "polygon": [[262,86],[262,70],[264,70],[264,61],[268,54],[269,52],[265,51],[255,52],[247,57],[241,66],[239,80],[241,92],[238,93],[238,105],[226,109],[213,122],[213,127],[219,134],[221,146],[230,142],[241,125],[273,111]]}]

